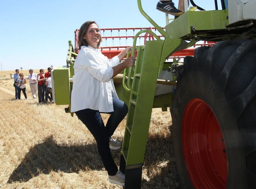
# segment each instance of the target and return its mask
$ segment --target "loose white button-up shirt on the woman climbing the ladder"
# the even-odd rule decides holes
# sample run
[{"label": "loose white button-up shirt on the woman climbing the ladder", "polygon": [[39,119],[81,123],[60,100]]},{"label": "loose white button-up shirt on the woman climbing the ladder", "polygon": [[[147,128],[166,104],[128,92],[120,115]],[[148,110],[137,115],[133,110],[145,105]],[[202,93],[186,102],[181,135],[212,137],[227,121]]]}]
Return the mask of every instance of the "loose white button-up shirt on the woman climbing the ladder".
[{"label": "loose white button-up shirt on the woman climbing the ladder", "polygon": [[113,66],[120,63],[117,56],[108,59],[100,49],[82,46],[74,63],[71,112],[90,108],[112,112],[112,95],[117,97],[113,81]]}]

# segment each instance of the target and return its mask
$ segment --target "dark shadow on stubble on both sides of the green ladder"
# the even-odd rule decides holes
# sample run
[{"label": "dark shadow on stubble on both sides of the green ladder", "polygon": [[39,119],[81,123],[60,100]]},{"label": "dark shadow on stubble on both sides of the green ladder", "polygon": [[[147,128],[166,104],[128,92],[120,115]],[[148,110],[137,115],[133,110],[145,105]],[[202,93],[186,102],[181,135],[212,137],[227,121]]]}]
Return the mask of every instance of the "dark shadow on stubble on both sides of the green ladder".
[{"label": "dark shadow on stubble on both sides of the green ladder", "polygon": [[[120,151],[112,151],[115,162],[119,165]],[[179,188],[179,179],[175,171],[175,159],[171,153],[171,136],[149,136],[143,165],[142,189]],[[53,136],[32,147],[20,165],[12,172],[7,183],[27,182],[40,173],[51,171],[78,173],[79,170],[100,170],[100,161],[96,144],[58,145]],[[145,176],[146,175],[146,176]]]}]

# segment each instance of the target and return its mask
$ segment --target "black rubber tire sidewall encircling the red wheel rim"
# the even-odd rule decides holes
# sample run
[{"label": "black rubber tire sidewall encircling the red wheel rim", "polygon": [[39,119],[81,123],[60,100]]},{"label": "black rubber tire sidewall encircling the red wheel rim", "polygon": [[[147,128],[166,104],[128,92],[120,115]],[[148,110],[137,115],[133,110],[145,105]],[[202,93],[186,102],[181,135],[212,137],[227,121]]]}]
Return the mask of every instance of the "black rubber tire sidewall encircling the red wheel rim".
[{"label": "black rubber tire sidewall encircling the red wheel rim", "polygon": [[[238,118],[233,111],[234,107],[227,100],[221,85],[216,83],[211,78],[211,74],[203,71],[203,69],[191,69],[194,61],[194,58],[189,58],[187,65],[185,64],[185,73],[180,74],[178,86],[174,93],[174,106],[171,107],[173,121],[171,126],[172,147],[181,188],[194,188],[187,172],[181,137],[183,113],[187,104],[194,98],[199,98],[208,104],[222,130],[228,160],[226,188],[255,188],[256,177],[246,169],[246,149],[248,144],[245,141],[247,141],[248,135],[239,132]],[[255,143],[252,143],[250,148],[255,148]]]}]

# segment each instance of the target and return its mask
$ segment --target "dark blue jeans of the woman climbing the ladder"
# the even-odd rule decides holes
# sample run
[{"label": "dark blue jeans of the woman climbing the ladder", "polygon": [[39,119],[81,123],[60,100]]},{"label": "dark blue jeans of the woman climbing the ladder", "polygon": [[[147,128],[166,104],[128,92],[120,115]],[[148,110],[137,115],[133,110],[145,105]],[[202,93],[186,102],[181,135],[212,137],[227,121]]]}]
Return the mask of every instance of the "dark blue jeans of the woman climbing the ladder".
[{"label": "dark blue jeans of the woman climbing the ladder", "polygon": [[118,171],[110,152],[109,137],[113,135],[117,126],[128,112],[128,107],[122,100],[113,96],[112,99],[114,111],[107,112],[110,116],[106,126],[104,125],[98,110],[83,109],[75,112],[77,117],[88,128],[96,140],[98,153],[108,175],[115,175]]}]

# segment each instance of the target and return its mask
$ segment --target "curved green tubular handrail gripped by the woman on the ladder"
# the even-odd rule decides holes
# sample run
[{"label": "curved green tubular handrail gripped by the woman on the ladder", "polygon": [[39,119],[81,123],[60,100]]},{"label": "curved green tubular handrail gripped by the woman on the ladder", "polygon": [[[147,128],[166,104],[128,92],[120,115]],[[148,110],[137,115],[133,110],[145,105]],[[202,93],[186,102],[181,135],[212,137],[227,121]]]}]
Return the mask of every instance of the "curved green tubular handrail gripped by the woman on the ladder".
[{"label": "curved green tubular handrail gripped by the woman on the ladder", "polygon": [[[152,32],[152,31],[150,31],[150,30],[142,30],[142,31],[138,32],[138,33],[134,36],[133,47],[132,47],[132,54],[131,54],[132,56],[134,56],[135,50],[138,49],[138,48],[136,48],[136,42],[137,42],[138,36],[139,36],[141,33],[150,33],[150,34],[152,34],[157,40],[161,40],[161,39],[157,36],[156,33]],[[130,55],[130,53],[127,53],[126,58],[128,58],[129,55]],[[138,55],[139,55],[139,54],[138,54]],[[137,60],[136,60],[136,61],[137,61]],[[135,63],[135,69],[134,69],[135,71],[137,70],[137,65],[138,65],[138,64]],[[137,95],[138,92],[134,91],[134,90],[131,88],[131,70],[132,70],[132,68],[130,67],[130,68],[129,68],[129,72],[128,72],[128,80],[127,80],[127,86],[128,86],[128,87],[127,87],[126,84],[125,84],[126,68],[124,69],[123,87],[124,87],[124,89],[125,89],[127,92],[131,92],[131,93],[133,93],[134,95]]]}]

